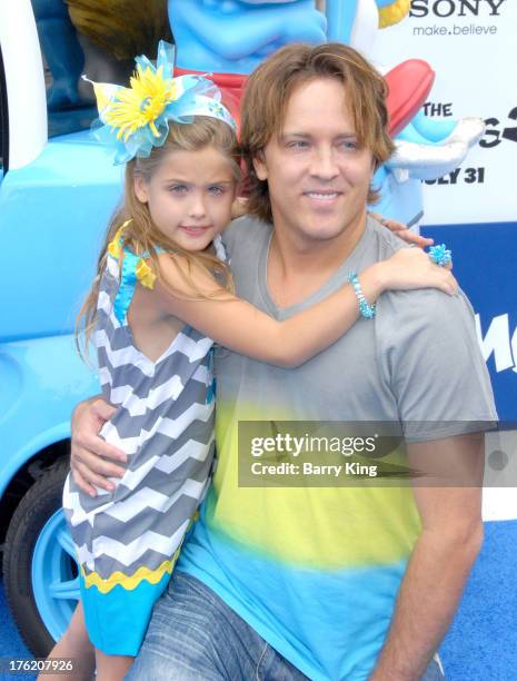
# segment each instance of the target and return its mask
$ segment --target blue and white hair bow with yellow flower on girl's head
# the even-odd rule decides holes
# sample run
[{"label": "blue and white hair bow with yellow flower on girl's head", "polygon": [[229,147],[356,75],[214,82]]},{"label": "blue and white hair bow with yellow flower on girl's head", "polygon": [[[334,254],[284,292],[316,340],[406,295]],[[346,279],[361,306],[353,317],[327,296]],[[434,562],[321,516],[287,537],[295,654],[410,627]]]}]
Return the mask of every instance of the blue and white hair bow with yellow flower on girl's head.
[{"label": "blue and white hair bow with yellow flower on girl's head", "polygon": [[210,116],[237,128],[220,101],[219,89],[208,78],[172,77],[172,45],[160,40],[156,67],[145,56],[137,57],[136,62],[129,88],[89,81],[99,110],[96,137],[115,144],[115,165],[147,158],[153,147],[161,147],[169,134],[169,120],[189,124],[193,116]]}]

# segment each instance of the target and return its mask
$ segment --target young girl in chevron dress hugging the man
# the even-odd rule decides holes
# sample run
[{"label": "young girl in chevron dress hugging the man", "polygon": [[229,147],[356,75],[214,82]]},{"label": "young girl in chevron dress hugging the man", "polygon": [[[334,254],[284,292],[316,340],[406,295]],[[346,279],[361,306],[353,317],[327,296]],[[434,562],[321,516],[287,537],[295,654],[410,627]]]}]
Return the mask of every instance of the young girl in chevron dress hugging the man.
[{"label": "young girl in chevron dress hugging the man", "polygon": [[[128,162],[123,209],[83,307],[103,396],[118,407],[101,433],[127,453],[127,470],[112,493],[91,497],[69,476],[63,495],[80,563],[74,635],[83,616],[97,677],[110,681],[137,655],[210,482],[213,342],[294,367],[337,340],[359,310],[371,317],[387,288],[454,293],[427,255],[401,249],[282,323],[235,297],[219,237],[239,177],[231,117],[209,81],[165,76],[163,46],[157,69],[137,61],[131,89],[96,88],[101,120],[117,130],[117,161]],[[66,634],[52,655],[71,648]]]}]

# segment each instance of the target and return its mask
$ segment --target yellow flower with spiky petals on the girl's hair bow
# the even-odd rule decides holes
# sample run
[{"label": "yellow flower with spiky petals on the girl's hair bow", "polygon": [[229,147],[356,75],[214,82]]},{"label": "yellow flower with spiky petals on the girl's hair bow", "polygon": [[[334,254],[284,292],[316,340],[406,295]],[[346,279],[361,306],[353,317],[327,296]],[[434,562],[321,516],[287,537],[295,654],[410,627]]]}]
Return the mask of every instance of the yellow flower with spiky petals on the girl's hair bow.
[{"label": "yellow flower with spiky petals on the girl's hair bow", "polygon": [[159,137],[155,121],[163,109],[177,97],[176,83],[163,78],[163,67],[156,71],[150,67],[137,66],[130,79],[130,88],[121,88],[106,112],[106,122],[118,128],[117,139],[127,141],[140,128],[149,126],[155,137]]}]

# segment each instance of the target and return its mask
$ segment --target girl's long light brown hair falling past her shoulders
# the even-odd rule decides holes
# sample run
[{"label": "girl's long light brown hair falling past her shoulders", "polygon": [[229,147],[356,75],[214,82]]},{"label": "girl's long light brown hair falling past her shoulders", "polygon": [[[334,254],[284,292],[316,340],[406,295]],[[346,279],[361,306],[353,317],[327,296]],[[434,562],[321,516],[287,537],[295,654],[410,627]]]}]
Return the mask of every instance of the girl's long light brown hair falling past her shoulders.
[{"label": "girl's long light brown hair falling past her shoulders", "polygon": [[[168,253],[179,255],[182,263],[187,265],[187,274],[182,267],[178,267],[178,272],[196,293],[192,299],[207,297],[207,294],[201,292],[189,276],[193,264],[201,265],[215,275],[217,280],[222,283],[221,289],[233,292],[233,282],[226,263],[210,253],[185,250],[178,246],[156,227],[147,204],[139,201],[135,194],[135,179],[141,177],[148,182],[170,151],[198,151],[210,146],[228,158],[232,164],[236,180],[238,180],[240,178],[240,149],[237,136],[230,126],[208,116],[196,116],[191,124],[169,121],[166,144],[162,147],[155,147],[148,158],[135,158],[126,165],[123,205],[110,220],[97,263],[97,275],[77,318],[76,345],[83,358],[88,357],[88,343],[96,326],[97,299],[100,279],[107,265],[108,246],[119,228],[128,220],[122,235],[125,246],[128,246],[136,255],[148,253],[150,260],[148,264],[158,278],[160,278],[160,265],[157,248],[162,248]],[[182,297],[179,292],[171,293]]]}]

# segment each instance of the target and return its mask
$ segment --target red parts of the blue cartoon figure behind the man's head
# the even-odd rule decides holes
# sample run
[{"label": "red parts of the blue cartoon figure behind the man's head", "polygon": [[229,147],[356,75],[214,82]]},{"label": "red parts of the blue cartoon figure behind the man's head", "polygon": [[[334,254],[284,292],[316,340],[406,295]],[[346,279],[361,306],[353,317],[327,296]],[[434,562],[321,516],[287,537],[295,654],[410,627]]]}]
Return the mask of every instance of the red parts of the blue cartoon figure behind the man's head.
[{"label": "red parts of the blue cartoon figure behind the man's head", "polygon": [[[199,71],[175,69],[175,76],[186,73],[206,75]],[[239,125],[240,99],[248,77],[240,73],[207,73],[207,76],[220,88],[222,102]],[[388,83],[389,134],[395,137],[426,101],[435,80],[435,72],[427,61],[408,59],[386,73],[385,79]]]}]

